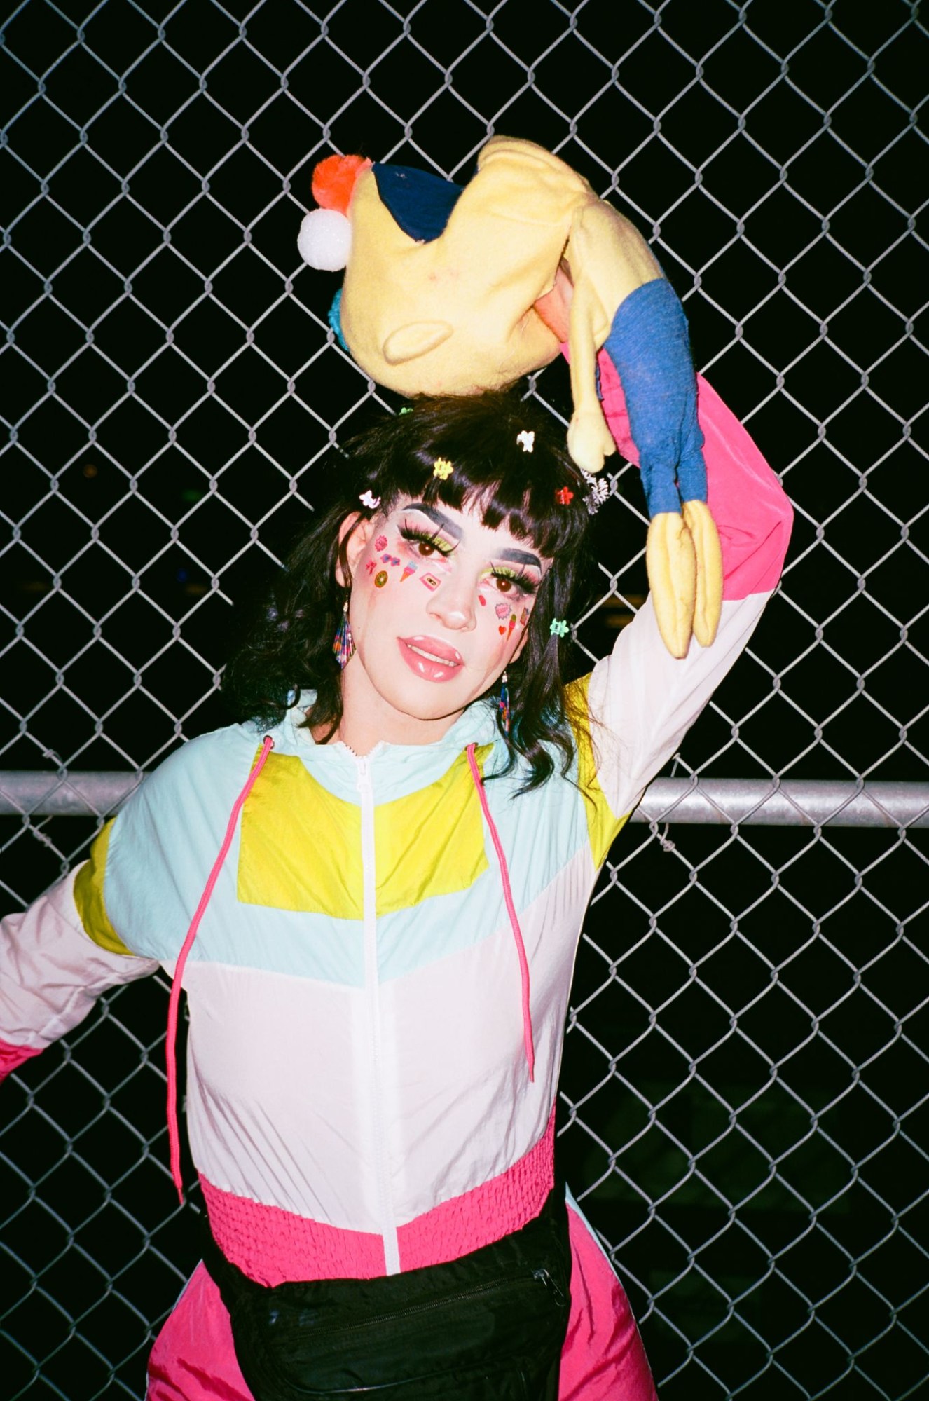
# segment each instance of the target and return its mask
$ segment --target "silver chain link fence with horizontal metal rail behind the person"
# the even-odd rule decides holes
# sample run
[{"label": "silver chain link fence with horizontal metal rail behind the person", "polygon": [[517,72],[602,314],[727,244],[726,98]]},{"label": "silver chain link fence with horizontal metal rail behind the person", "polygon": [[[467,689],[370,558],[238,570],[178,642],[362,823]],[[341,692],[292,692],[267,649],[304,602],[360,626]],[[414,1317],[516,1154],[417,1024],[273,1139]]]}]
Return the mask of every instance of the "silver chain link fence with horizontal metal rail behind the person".
[{"label": "silver chain link fence with horizontal metal rail behind the person", "polygon": [[[325,502],[333,444],[397,406],[296,254],[332,150],[451,178],[495,130],[556,150],[652,241],[783,474],[782,588],[684,786],[611,853],[569,1019],[565,1167],[666,1401],[929,1386],[928,71],[902,0],[28,0],[4,22],[7,908],[108,806],[62,815],[36,782],[125,786],[226,723],[235,611]],[[560,367],[528,389],[566,417]],[[645,593],[636,474],[610,481],[579,670]],[[715,824],[675,820],[696,779]],[[783,821],[813,815],[755,825],[782,779]],[[883,825],[842,827],[865,785]],[[195,1262],[164,992],[105,998],[0,1096],[4,1395],[142,1395]]]}]

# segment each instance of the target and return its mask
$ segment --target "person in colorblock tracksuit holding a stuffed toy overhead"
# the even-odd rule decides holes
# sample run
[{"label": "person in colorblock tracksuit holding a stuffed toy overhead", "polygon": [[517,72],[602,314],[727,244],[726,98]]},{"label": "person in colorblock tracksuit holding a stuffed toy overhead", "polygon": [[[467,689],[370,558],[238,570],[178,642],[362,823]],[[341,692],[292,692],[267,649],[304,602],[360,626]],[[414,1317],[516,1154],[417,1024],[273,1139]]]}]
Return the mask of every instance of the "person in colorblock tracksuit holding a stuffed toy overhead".
[{"label": "person in colorblock tracksuit holding a stuffed toy overhead", "polygon": [[601,493],[552,417],[489,394],[377,426],[227,668],[240,723],[7,919],[7,1070],[113,984],[188,995],[209,1238],[151,1401],[654,1397],[555,1101],[598,871],[783,559],[778,478],[726,433],[715,642],[675,660],[646,601],[565,684]]}]

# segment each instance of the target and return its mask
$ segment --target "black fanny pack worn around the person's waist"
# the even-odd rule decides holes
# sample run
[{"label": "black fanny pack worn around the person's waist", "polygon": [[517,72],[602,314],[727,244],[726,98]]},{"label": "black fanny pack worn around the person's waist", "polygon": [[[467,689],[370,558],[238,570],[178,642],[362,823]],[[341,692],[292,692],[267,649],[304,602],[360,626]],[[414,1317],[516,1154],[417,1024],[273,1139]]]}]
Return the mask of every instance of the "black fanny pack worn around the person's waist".
[{"label": "black fanny pack worn around the person's waist", "polygon": [[558,1187],[523,1230],[446,1265],[378,1279],[268,1289],[209,1236],[255,1401],[556,1401],[570,1303],[570,1245]]}]

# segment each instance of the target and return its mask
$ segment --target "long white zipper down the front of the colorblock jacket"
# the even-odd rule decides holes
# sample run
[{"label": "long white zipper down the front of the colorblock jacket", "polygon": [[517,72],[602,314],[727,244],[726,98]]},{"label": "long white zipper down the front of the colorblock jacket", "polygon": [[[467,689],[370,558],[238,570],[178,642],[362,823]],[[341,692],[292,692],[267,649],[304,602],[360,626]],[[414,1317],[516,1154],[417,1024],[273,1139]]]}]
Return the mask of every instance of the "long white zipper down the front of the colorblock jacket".
[{"label": "long white zipper down the front of the colorblock jacket", "polygon": [[377,974],[377,867],[374,862],[374,790],[367,759],[356,758],[357,789],[362,804],[362,913],[364,930],[364,1002],[367,1021],[367,1049],[371,1076],[371,1119],[374,1135],[374,1173],[377,1180],[378,1215],[384,1241],[384,1269],[399,1274],[399,1243],[391,1201],[390,1163],[387,1153],[387,1125],[381,1093],[381,998]]}]

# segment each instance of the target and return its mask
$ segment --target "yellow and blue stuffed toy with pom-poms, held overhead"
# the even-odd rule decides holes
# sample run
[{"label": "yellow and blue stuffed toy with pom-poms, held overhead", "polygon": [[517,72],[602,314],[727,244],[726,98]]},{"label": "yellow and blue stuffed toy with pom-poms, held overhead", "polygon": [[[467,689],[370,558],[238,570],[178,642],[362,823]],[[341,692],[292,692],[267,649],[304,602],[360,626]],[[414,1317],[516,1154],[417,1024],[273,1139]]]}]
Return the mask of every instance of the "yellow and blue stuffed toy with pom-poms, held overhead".
[{"label": "yellow and blue stuffed toy with pom-poms, held overhead", "polygon": [[567,448],[594,474],[617,450],[598,398],[597,356],[608,357],[642,469],[659,629],[675,657],[691,635],[709,646],[722,556],[687,319],[633,226],[565,161],[506,136],[482,147],[464,186],[332,156],[312,193],[321,207],[303,220],[300,254],[312,268],[345,268],[329,319],[378,384],[409,396],[478,394],[565,349]]}]

